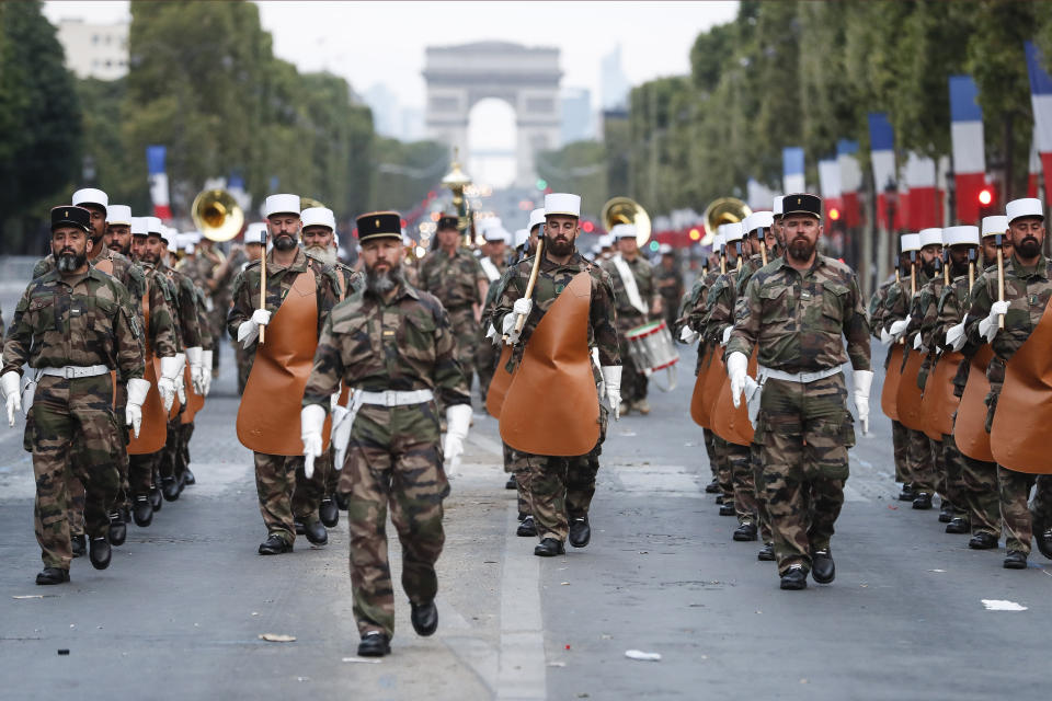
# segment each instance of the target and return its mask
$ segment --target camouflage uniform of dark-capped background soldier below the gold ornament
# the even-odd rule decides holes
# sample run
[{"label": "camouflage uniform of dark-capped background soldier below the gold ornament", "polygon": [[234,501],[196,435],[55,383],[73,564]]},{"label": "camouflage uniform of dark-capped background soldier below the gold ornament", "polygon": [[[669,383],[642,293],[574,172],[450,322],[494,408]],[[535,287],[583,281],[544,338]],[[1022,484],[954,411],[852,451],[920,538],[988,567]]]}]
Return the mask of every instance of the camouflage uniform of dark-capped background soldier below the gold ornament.
[{"label": "camouflage uniform of dark-capped background soldier below the gold ornament", "polygon": [[474,369],[474,344],[479,322],[474,308],[482,306],[479,283],[485,283],[485,273],[467,249],[457,249],[449,255],[443,250],[432,251],[420,264],[420,289],[438,298],[449,314],[449,324],[457,341],[457,361],[471,383]]}]

